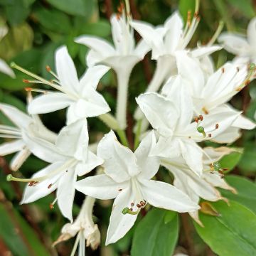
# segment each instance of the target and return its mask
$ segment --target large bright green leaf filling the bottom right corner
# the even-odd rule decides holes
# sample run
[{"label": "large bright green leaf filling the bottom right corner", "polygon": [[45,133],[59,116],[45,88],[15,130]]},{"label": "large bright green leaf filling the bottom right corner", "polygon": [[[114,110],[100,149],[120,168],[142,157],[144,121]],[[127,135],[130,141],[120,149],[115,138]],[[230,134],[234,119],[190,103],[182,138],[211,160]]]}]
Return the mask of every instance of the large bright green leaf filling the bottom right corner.
[{"label": "large bright green leaf filling the bottom right corner", "polygon": [[239,203],[213,203],[220,217],[200,214],[200,225],[194,222],[201,238],[220,256],[256,255],[256,215]]}]

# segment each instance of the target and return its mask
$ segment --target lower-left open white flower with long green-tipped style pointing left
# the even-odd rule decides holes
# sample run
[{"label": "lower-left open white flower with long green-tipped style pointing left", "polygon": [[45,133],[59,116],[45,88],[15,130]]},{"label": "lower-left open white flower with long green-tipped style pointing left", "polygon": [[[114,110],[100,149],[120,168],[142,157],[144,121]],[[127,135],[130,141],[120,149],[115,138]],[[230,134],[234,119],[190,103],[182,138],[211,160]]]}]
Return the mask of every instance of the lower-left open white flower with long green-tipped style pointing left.
[{"label": "lower-left open white flower with long green-tipped style pointing left", "polygon": [[86,119],[61,129],[55,144],[31,137],[30,134],[26,134],[25,142],[34,155],[50,164],[31,178],[8,176],[9,181],[28,182],[21,203],[31,203],[57,189],[55,201],[58,201],[60,211],[73,221],[72,208],[77,175],[85,175],[102,164],[102,159],[87,149]]}]

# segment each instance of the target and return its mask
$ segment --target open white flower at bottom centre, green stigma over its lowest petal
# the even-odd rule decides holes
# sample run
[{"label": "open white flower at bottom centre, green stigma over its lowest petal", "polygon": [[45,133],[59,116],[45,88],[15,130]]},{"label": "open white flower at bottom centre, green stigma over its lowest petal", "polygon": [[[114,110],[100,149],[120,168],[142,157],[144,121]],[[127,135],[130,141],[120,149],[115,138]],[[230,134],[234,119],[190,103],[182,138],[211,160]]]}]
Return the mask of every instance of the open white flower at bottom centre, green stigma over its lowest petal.
[{"label": "open white flower at bottom centre, green stigma over its lowest petal", "polygon": [[[105,160],[105,174],[78,181],[76,188],[99,199],[115,198],[106,245],[122,238],[146,203],[159,208],[186,212],[196,210],[188,196],[167,183],[150,180],[159,169],[159,158],[149,156],[156,144],[154,132],[149,133],[133,153],[119,144],[114,132],[101,140],[97,155]],[[127,214],[125,214],[127,213]]]}]

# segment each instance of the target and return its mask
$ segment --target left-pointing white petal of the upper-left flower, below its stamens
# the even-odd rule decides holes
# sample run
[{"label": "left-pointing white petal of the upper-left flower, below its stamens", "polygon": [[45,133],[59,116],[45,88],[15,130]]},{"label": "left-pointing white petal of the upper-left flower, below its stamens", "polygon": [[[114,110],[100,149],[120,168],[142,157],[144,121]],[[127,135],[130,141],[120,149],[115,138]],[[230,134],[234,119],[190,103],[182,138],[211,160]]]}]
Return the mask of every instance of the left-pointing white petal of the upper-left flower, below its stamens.
[{"label": "left-pointing white petal of the upper-left flower, below its stamens", "polygon": [[35,97],[28,105],[30,114],[45,114],[68,107],[73,100],[62,92],[50,92]]}]

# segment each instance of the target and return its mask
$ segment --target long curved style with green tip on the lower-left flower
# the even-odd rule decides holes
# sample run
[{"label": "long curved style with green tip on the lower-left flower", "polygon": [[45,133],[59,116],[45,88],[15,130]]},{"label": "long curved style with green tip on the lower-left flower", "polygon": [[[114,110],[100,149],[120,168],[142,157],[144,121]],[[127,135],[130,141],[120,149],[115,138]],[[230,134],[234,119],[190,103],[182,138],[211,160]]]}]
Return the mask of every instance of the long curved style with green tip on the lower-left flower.
[{"label": "long curved style with green tip on the lower-left flower", "polygon": [[20,182],[40,182],[46,180],[46,178],[50,178],[54,176],[55,174],[58,174],[60,171],[63,171],[65,169],[68,169],[72,166],[75,165],[77,160],[75,159],[70,159],[69,161],[66,161],[62,166],[59,168],[55,169],[54,171],[50,172],[50,174],[37,177],[37,178],[16,178],[12,176],[11,174],[6,176],[6,181],[20,181]]}]

